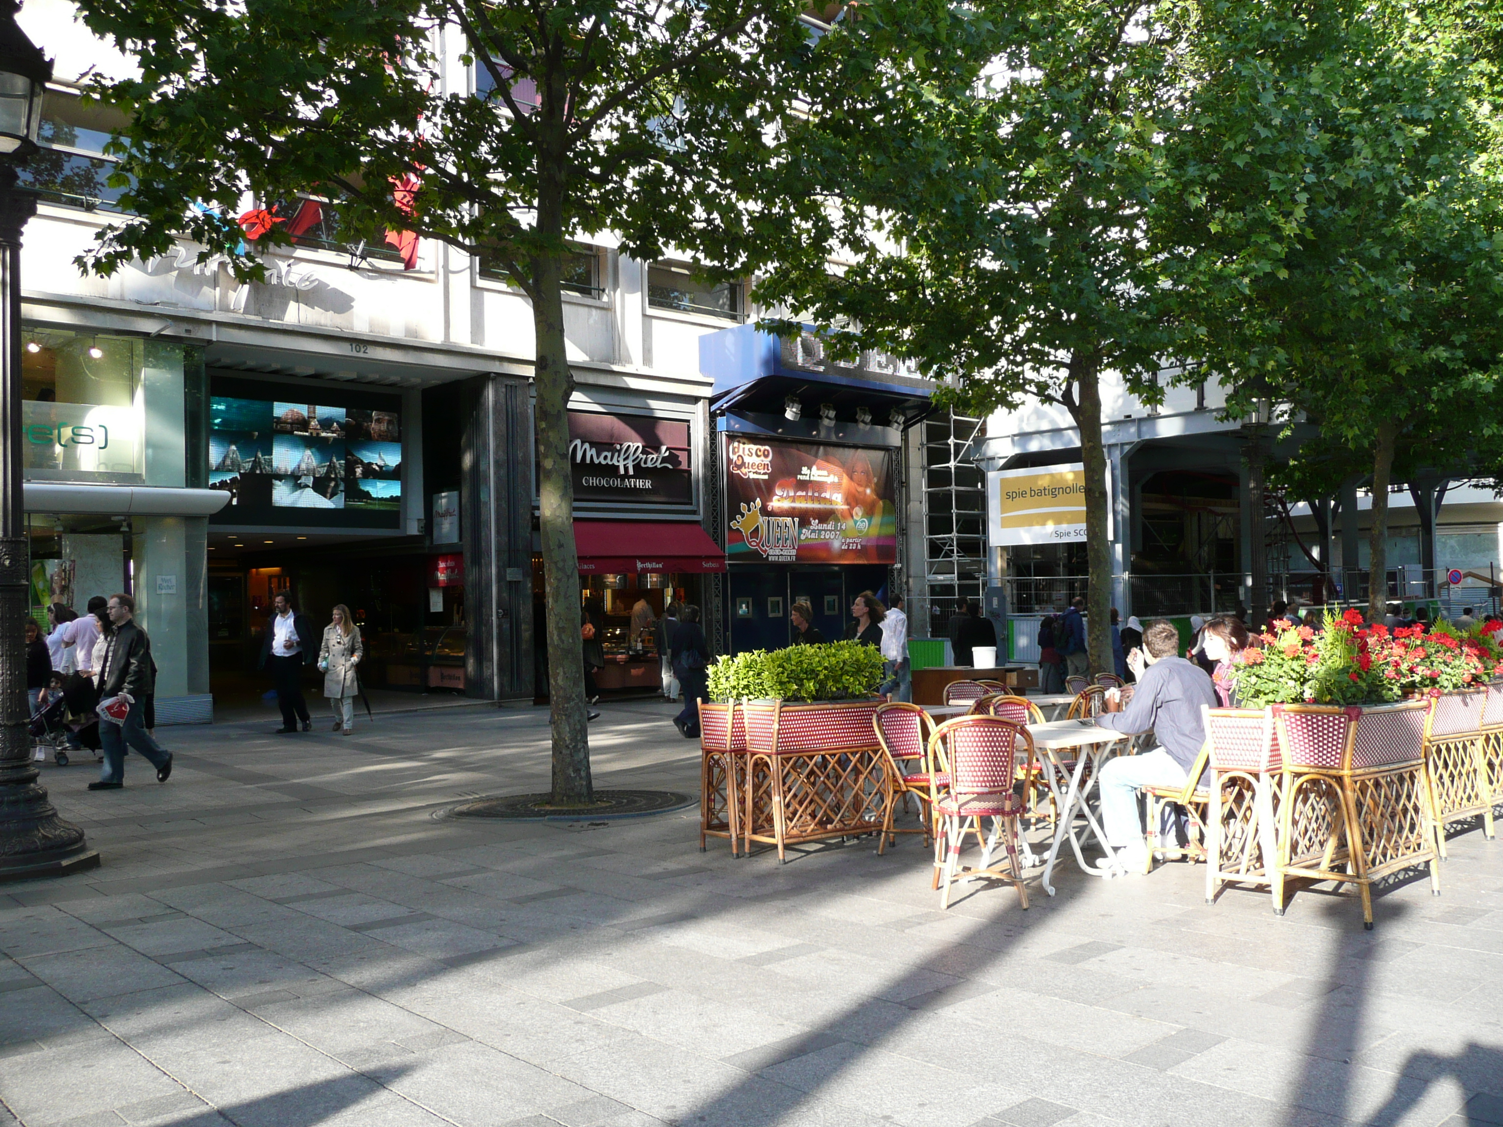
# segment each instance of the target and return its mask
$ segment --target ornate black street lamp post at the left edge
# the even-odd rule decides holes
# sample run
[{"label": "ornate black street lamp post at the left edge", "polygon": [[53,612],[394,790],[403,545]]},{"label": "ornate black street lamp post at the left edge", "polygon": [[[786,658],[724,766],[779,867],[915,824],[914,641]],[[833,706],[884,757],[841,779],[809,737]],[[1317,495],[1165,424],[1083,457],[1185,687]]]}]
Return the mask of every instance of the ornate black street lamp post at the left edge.
[{"label": "ornate black street lamp post at the left edge", "polygon": [[0,0],[0,881],[57,876],[99,864],[84,831],[59,817],[38,783],[27,739],[26,612],[30,550],[21,490],[21,230],[36,197],[17,191],[36,152],[53,65]]}]

